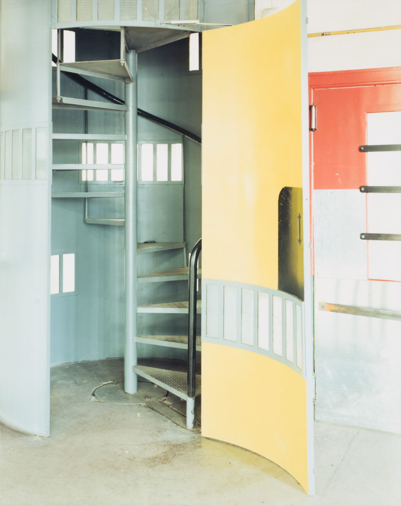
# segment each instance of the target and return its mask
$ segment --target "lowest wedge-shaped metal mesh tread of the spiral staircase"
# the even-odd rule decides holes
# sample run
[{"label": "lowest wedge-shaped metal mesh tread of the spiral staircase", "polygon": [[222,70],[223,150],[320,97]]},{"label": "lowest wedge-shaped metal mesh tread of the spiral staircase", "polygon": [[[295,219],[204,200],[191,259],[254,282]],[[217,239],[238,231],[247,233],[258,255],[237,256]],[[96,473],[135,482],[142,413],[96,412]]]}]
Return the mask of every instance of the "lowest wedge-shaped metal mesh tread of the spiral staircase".
[{"label": "lowest wedge-shaped metal mesh tread of the spiral staircase", "polygon": [[[187,373],[186,371],[174,371],[170,369],[162,369],[158,367],[148,367],[145,365],[137,365],[133,367],[134,372],[154,381],[156,385],[166,388],[175,395],[187,398]],[[201,375],[195,375],[195,397],[201,394]]]}]

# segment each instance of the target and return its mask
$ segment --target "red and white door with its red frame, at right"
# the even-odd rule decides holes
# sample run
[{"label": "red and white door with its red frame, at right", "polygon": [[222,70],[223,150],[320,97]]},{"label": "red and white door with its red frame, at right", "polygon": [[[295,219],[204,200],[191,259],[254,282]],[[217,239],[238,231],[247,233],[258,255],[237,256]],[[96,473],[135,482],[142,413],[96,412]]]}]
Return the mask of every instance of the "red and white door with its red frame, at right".
[{"label": "red and white door with its red frame, at right", "polygon": [[[401,69],[309,76],[316,106],[311,132],[316,418],[401,432],[401,321],[325,311],[328,304],[391,310],[401,320]],[[358,309],[358,311],[359,311]]]}]

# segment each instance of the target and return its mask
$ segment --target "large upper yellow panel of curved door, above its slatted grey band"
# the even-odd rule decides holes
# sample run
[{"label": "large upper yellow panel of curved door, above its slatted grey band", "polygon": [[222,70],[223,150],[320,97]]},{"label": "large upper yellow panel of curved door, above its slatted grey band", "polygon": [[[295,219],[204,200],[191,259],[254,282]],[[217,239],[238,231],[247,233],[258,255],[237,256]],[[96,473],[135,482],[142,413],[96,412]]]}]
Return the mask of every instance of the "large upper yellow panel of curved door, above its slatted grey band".
[{"label": "large upper yellow panel of curved door, above its slatted grey band", "polygon": [[277,289],[278,196],[302,187],[301,3],[203,33],[203,276]]}]

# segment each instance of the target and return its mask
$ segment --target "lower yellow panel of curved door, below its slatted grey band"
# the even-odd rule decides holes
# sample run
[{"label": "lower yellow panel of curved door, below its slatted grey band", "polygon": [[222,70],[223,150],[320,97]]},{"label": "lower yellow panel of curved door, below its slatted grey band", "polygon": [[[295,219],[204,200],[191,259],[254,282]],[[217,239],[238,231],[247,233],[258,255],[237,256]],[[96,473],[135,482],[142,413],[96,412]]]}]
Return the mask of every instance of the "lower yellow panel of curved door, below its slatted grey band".
[{"label": "lower yellow panel of curved door, below its slatted grey band", "polygon": [[308,493],[306,382],[263,355],[202,343],[202,436],[248,448]]}]

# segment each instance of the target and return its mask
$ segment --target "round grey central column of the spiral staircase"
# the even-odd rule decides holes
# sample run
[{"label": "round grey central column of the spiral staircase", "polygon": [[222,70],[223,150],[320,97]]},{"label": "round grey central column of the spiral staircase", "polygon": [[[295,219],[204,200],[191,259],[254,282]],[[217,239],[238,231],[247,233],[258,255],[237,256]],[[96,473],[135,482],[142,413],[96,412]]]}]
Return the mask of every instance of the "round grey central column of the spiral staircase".
[{"label": "round grey central column of the spiral staircase", "polygon": [[127,65],[133,82],[125,85],[125,349],[124,390],[135,394],[138,377],[132,367],[137,365],[137,145],[138,145],[138,87],[137,55],[126,53]]}]

